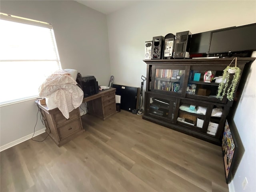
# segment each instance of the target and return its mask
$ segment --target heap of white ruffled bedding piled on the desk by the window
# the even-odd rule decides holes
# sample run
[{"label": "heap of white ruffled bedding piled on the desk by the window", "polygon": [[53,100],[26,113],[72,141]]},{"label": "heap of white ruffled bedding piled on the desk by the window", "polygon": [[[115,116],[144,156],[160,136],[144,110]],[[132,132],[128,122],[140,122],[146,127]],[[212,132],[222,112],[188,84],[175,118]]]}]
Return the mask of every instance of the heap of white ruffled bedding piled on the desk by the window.
[{"label": "heap of white ruffled bedding piled on the desk by the window", "polygon": [[77,82],[70,73],[65,70],[58,70],[48,76],[40,86],[39,96],[41,98],[54,98],[56,106],[68,119],[69,112],[78,108],[84,98],[84,92],[76,84]]}]

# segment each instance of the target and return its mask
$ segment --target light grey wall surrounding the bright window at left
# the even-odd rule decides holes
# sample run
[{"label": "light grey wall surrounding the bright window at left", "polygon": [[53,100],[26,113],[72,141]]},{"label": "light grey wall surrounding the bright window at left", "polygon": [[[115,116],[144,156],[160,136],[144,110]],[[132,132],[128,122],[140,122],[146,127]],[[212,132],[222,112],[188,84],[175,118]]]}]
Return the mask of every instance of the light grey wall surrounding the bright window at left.
[{"label": "light grey wall surrounding the bright window at left", "polygon": [[[1,0],[0,11],[51,23],[62,68],[76,69],[83,76],[95,76],[99,84],[108,84],[110,62],[105,14],[66,0]],[[34,100],[3,106],[0,110],[1,147],[33,133],[37,113]],[[42,128],[44,126],[38,122],[36,131]]]}]

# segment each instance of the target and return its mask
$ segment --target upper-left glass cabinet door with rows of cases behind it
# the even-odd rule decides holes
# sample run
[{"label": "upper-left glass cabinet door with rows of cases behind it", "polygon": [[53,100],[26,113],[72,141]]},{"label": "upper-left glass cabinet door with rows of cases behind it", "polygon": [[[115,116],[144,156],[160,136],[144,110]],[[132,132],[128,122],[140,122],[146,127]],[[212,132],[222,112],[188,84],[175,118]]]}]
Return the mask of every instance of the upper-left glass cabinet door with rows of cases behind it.
[{"label": "upper-left glass cabinet door with rows of cases behind it", "polygon": [[176,66],[153,66],[151,90],[165,94],[182,93],[185,68]]}]

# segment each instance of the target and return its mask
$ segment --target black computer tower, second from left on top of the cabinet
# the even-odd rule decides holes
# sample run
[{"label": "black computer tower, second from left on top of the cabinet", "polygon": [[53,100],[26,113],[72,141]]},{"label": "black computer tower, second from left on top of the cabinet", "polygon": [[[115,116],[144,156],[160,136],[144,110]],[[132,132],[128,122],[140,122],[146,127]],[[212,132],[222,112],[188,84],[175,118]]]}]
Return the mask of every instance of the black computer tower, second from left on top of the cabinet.
[{"label": "black computer tower, second from left on top of the cabinet", "polygon": [[151,59],[162,59],[163,49],[164,49],[164,37],[163,36],[153,37]]}]

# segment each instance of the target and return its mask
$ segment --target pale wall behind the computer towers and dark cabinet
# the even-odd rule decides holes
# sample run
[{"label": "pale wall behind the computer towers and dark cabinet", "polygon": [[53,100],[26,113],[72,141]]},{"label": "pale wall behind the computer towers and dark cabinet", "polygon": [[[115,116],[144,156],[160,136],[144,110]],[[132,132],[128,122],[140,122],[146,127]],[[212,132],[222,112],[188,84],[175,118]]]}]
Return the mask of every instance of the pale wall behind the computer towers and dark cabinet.
[{"label": "pale wall behind the computer towers and dark cabinet", "polygon": [[255,22],[254,1],[139,1],[107,16],[111,74],[116,84],[140,86],[144,43],[154,36],[192,34]]}]

